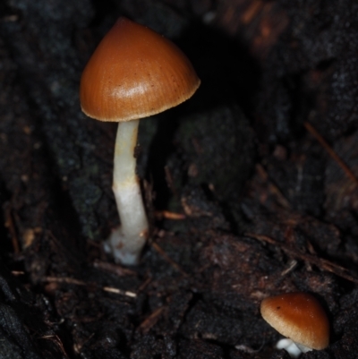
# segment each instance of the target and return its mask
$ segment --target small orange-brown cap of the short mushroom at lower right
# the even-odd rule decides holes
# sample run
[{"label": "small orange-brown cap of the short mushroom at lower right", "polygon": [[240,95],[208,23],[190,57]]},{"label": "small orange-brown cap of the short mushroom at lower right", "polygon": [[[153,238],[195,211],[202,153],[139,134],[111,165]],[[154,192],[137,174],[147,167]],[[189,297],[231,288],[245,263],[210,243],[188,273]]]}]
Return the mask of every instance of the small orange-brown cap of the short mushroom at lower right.
[{"label": "small orange-brown cap of the short mushroom at lower right", "polygon": [[288,293],[264,299],[262,318],[286,338],[312,349],[329,344],[329,323],[319,301],[307,293]]}]

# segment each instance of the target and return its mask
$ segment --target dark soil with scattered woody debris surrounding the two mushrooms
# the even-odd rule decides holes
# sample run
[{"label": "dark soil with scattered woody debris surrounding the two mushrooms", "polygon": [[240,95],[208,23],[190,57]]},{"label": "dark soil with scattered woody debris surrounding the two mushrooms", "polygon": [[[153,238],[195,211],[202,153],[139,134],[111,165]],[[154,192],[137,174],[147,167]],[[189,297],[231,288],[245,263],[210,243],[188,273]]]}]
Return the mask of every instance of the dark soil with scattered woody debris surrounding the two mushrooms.
[{"label": "dark soil with scattered woody debris surrounding the two mushrooms", "polygon": [[[303,357],[357,358],[357,13],[354,0],[3,0],[0,357],[286,359],[260,302],[304,291],[331,340]],[[78,94],[120,15],[172,38],[202,81],[141,122],[151,235],[133,268],[101,246],[119,225],[115,124],[83,115]]]}]

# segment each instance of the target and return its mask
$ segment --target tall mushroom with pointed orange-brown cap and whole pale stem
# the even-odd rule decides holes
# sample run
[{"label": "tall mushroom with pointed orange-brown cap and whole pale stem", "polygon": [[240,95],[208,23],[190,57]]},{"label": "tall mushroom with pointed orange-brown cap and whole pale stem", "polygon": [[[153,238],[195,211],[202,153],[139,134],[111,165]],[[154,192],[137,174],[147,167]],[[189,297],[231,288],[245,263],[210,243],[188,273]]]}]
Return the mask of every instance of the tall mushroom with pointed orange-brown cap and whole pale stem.
[{"label": "tall mushroom with pointed orange-brown cap and whole pale stem", "polygon": [[107,243],[115,261],[137,264],[149,231],[135,173],[139,119],[179,105],[199,85],[191,62],[178,47],[124,17],[115,22],[83,70],[82,111],[100,121],[118,122],[113,191],[121,227]]}]

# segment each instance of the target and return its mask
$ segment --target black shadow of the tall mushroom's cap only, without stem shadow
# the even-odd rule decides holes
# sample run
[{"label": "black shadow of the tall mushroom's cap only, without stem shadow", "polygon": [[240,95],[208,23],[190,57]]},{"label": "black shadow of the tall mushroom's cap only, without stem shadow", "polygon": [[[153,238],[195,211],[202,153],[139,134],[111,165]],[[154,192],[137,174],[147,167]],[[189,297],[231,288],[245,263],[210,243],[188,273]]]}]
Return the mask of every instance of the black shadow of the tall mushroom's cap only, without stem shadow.
[{"label": "black shadow of the tall mushroom's cap only, without stem shadow", "polygon": [[251,113],[261,72],[243,43],[200,22],[193,22],[175,42],[191,59],[201,80],[190,101],[194,111],[234,103],[245,114]]}]

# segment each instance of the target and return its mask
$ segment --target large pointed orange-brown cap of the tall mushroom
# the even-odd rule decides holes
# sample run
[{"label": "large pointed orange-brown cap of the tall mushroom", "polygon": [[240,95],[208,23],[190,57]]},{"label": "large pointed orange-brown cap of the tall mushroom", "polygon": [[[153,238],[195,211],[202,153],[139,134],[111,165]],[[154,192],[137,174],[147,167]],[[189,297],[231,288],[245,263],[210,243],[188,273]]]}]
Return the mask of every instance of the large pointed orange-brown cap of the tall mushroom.
[{"label": "large pointed orange-brown cap of the tall mushroom", "polygon": [[121,17],[82,73],[81,107],[101,121],[130,121],[179,105],[199,85],[191,62],[175,44]]}]

